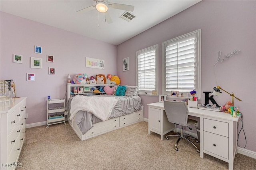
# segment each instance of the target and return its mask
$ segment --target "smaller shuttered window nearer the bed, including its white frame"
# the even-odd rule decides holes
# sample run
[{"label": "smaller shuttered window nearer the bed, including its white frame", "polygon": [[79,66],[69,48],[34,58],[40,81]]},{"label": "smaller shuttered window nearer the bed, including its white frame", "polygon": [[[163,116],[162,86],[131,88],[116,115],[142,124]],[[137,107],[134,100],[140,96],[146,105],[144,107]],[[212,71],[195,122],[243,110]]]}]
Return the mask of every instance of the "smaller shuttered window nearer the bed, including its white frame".
[{"label": "smaller shuttered window nearer the bed, including its white frame", "polygon": [[152,90],[158,90],[158,44],[136,52],[136,84],[139,93],[151,94]]}]

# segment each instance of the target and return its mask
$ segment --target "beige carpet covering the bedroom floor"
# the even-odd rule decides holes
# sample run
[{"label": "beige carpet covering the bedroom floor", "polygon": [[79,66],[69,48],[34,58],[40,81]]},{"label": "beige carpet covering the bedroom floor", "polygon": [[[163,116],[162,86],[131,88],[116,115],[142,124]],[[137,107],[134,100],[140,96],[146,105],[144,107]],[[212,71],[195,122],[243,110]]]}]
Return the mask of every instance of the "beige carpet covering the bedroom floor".
[{"label": "beige carpet covering the bedroom floor", "polygon": [[[69,124],[26,129],[16,170],[227,170],[228,163],[204,154],[178,137],[160,140],[140,122],[81,141]],[[197,144],[199,146],[199,143]],[[237,154],[234,170],[256,170],[256,160]]]}]

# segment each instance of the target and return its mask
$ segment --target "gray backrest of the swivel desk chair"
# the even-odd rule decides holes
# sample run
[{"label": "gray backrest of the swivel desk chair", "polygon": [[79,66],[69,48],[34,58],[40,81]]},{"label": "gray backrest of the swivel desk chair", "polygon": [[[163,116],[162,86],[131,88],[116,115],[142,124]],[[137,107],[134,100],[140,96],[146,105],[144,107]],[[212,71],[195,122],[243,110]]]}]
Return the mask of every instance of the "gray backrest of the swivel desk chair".
[{"label": "gray backrest of the swivel desk chair", "polygon": [[165,100],[164,110],[169,122],[186,126],[188,122],[188,107],[186,102]]}]

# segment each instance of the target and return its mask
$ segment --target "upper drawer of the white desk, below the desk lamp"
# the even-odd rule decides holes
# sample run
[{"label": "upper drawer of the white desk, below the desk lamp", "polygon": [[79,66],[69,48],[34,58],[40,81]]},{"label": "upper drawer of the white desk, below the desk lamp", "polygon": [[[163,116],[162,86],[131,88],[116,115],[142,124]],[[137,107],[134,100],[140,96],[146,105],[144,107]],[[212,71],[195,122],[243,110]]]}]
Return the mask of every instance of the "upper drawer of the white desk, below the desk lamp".
[{"label": "upper drawer of the white desk, below the desk lamp", "polygon": [[228,123],[204,118],[204,131],[228,137]]}]

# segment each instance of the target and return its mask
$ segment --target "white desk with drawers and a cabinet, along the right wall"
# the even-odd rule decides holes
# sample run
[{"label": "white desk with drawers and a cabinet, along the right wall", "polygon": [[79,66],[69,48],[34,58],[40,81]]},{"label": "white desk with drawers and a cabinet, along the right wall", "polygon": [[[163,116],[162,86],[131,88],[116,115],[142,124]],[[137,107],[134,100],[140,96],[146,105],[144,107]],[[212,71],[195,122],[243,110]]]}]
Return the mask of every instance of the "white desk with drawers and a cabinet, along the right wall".
[{"label": "white desk with drawers and a cabinet, along the right wall", "polygon": [[[174,130],[164,111],[164,103],[148,105],[148,134],[155,132],[164,135]],[[228,169],[233,170],[234,158],[237,153],[237,126],[240,116],[233,118],[230,114],[189,108],[188,115],[200,118],[200,157],[204,153],[228,162]]]}]

